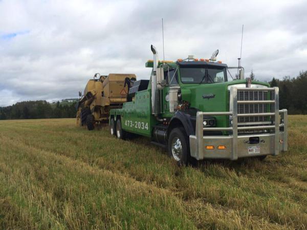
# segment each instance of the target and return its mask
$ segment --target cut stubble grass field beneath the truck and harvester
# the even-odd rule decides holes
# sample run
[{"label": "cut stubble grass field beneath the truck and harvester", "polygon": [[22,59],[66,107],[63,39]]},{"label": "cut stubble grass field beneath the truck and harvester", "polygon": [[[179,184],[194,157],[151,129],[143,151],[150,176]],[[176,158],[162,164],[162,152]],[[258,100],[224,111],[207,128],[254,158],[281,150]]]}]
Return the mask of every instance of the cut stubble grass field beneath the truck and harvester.
[{"label": "cut stubble grass field beneath the truck and harvester", "polygon": [[0,121],[0,229],[306,229],[307,116],[264,162],[179,168],[74,119]]}]

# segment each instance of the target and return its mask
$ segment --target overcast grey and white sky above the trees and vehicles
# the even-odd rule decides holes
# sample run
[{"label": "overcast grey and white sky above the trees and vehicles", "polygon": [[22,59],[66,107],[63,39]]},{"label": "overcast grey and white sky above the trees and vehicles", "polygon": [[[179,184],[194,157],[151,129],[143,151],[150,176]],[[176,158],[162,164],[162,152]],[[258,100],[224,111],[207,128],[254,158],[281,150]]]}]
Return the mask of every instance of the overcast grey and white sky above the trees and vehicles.
[{"label": "overcast grey and white sky above the trees and vehicles", "polygon": [[150,44],[237,65],[244,24],[246,77],[307,70],[307,1],[0,0],[0,106],[77,98],[95,73],[149,79]]}]

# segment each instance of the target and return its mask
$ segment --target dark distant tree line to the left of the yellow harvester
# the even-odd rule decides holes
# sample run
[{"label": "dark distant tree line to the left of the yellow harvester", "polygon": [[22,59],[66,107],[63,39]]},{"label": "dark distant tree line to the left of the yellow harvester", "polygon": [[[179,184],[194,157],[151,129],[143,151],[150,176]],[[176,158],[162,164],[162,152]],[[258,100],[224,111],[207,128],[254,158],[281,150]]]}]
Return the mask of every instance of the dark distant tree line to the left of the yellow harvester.
[{"label": "dark distant tree line to the left of the yellow harvester", "polygon": [[23,101],[0,108],[0,120],[75,117],[76,102],[61,105],[59,101],[55,104],[50,104],[47,101]]}]

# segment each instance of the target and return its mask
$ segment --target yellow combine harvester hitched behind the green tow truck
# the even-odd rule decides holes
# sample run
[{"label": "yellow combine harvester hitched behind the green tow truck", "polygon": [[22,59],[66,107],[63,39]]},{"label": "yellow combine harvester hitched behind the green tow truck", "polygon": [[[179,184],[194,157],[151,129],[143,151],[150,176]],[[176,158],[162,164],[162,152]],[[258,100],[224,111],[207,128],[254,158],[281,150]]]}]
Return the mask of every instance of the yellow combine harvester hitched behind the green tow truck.
[{"label": "yellow combine harvester hitched behind the green tow truck", "polygon": [[95,74],[87,82],[83,96],[79,91],[77,125],[93,130],[96,124],[108,124],[109,110],[121,108],[127,101],[128,87],[133,81],[135,74]]}]

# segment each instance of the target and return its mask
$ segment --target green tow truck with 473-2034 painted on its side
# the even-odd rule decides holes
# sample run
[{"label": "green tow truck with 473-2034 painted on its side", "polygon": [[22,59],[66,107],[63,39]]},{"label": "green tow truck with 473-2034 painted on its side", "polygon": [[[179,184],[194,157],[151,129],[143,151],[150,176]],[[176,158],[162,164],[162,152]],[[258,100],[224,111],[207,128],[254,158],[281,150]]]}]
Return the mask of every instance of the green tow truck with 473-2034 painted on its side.
[{"label": "green tow truck with 473-2034 painted on its side", "polygon": [[[279,110],[278,88],[244,79],[244,68],[210,59],[153,60],[150,80],[130,81],[127,102],[111,109],[109,129],[118,139],[130,133],[165,147],[180,165],[191,160],[264,159],[287,151],[287,109]],[[228,81],[230,68],[237,78]]]}]

